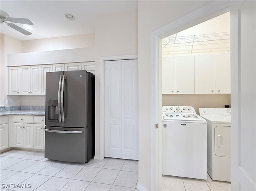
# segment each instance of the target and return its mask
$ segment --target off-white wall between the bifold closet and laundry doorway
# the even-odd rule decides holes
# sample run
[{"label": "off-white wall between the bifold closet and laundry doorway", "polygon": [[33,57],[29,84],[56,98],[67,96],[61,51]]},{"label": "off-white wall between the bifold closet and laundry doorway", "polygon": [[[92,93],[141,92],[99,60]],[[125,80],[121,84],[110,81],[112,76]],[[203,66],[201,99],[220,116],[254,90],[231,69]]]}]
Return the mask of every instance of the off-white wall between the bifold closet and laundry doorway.
[{"label": "off-white wall between the bifold closet and laundry doorway", "polygon": [[151,33],[210,1],[139,1],[139,181],[151,190]]}]

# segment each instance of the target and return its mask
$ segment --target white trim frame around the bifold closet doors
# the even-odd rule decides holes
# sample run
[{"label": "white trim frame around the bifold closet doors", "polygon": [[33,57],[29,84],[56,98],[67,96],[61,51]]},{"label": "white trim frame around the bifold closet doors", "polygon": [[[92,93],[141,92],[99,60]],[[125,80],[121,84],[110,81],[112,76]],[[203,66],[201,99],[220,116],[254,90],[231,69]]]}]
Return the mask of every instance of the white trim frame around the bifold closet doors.
[{"label": "white trim frame around the bifold closet doors", "polygon": [[138,59],[138,54],[134,55],[120,55],[100,57],[100,156],[95,156],[94,159],[103,160],[104,152],[104,62],[112,60],[130,60]]}]

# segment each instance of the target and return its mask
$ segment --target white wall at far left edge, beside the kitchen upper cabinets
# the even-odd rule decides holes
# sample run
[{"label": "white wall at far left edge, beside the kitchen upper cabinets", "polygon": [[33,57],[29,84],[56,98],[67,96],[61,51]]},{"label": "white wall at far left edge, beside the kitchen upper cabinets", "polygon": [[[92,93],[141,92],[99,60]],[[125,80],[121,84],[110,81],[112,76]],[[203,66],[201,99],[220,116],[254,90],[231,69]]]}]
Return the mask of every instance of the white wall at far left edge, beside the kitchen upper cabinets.
[{"label": "white wall at far left edge, beside the kitchen upper cabinets", "polygon": [[[8,69],[7,69],[7,55],[14,53],[21,53],[22,41],[10,37],[5,34],[1,34],[1,63],[0,63],[0,105],[15,106],[18,96],[7,96],[8,91]],[[10,99],[10,104],[6,104],[6,99]]]}]

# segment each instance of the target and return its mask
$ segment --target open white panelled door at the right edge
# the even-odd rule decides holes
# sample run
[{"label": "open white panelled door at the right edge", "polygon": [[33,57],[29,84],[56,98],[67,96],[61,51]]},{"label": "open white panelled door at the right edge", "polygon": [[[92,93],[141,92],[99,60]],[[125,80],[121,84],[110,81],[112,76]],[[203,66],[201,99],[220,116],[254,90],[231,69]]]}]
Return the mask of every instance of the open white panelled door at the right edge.
[{"label": "open white panelled door at the right edge", "polygon": [[231,190],[256,190],[256,2],[231,6]]}]

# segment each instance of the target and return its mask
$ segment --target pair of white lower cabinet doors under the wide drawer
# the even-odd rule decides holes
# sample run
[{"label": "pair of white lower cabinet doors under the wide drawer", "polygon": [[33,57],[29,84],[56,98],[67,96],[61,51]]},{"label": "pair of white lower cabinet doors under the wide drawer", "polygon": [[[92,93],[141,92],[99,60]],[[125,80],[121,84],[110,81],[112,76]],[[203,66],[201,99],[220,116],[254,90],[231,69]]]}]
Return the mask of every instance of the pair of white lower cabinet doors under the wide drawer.
[{"label": "pair of white lower cabinet doors under the wide drawer", "polygon": [[14,123],[14,147],[33,148],[33,124]]}]

